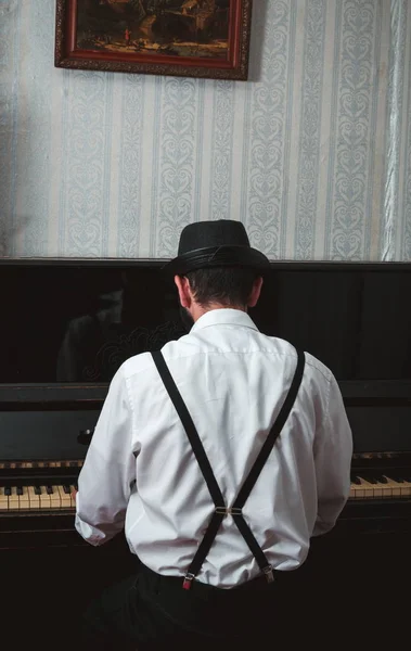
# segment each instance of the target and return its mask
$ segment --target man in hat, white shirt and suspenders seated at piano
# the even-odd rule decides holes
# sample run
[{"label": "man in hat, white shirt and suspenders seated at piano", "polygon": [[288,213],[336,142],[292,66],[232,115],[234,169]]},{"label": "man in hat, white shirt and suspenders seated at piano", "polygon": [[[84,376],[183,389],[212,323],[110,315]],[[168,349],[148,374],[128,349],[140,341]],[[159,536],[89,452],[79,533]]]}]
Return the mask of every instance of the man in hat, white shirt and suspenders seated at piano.
[{"label": "man in hat, white shirt and suspenders seated at piano", "polygon": [[352,442],[334,376],[247,315],[269,267],[240,222],[185,227],[166,270],[191,330],[111,383],[76,526],[92,545],[125,527],[141,565],[91,608],[103,636],[139,649],[264,640],[311,536],[347,500]]}]

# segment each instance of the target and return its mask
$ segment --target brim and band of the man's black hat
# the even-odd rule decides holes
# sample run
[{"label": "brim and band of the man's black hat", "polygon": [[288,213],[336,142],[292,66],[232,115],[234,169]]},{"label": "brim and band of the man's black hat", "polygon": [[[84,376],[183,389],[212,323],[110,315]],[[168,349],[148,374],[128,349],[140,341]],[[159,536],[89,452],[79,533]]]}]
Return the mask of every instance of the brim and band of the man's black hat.
[{"label": "brim and band of the man's black hat", "polygon": [[248,267],[262,273],[270,269],[270,260],[251,246],[209,246],[179,255],[167,263],[163,270],[168,277],[174,277],[214,267]]}]

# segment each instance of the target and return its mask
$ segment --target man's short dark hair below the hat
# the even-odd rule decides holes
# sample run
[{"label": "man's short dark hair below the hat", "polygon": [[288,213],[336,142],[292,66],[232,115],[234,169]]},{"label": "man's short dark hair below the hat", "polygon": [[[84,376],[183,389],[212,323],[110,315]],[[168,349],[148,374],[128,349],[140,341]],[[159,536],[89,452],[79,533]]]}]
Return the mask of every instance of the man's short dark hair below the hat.
[{"label": "man's short dark hair below the hat", "polygon": [[258,272],[244,267],[197,269],[185,275],[195,301],[207,307],[219,305],[246,306]]}]

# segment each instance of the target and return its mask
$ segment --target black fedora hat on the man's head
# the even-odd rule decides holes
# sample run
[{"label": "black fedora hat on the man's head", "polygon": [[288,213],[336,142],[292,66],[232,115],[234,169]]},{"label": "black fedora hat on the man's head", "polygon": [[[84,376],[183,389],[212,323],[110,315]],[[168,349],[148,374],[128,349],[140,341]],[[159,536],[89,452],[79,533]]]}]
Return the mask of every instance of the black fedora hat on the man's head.
[{"label": "black fedora hat on the man's head", "polygon": [[184,276],[210,267],[248,267],[261,273],[270,268],[268,257],[252,248],[241,221],[195,221],[181,231],[178,255],[167,263],[167,276]]}]

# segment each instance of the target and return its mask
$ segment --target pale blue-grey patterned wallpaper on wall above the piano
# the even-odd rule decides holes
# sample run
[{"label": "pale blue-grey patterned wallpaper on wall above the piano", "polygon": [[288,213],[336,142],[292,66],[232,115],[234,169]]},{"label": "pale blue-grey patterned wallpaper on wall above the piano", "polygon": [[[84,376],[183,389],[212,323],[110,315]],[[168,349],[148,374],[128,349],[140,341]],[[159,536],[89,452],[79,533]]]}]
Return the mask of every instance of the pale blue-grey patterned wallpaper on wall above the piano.
[{"label": "pale blue-grey patterned wallpaper on wall above the piano", "polygon": [[254,0],[248,82],[56,69],[54,10],[0,0],[1,256],[411,259],[410,2]]}]

